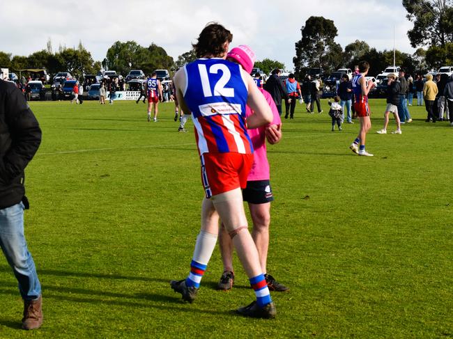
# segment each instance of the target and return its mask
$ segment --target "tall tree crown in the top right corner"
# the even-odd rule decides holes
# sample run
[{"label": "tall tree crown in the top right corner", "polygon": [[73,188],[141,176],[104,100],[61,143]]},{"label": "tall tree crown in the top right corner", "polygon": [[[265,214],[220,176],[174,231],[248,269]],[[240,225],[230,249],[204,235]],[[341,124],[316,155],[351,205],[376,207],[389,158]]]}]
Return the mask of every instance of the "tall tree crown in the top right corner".
[{"label": "tall tree crown in the top right corner", "polygon": [[453,42],[452,0],[403,0],[409,21],[414,23],[408,31],[410,45],[444,47]]}]

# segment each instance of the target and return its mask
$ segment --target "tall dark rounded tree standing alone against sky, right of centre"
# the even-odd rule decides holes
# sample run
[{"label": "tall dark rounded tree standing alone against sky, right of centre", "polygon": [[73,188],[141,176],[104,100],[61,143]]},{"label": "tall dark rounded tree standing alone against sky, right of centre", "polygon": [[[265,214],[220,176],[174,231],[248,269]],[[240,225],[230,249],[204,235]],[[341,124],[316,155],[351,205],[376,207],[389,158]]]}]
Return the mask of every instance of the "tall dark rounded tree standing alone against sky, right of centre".
[{"label": "tall dark rounded tree standing alone against sky, right of centre", "polygon": [[300,29],[302,39],[295,42],[293,63],[295,73],[303,77],[310,67],[321,67],[327,71],[341,65],[342,49],[334,39],[338,35],[337,27],[330,19],[309,17]]}]

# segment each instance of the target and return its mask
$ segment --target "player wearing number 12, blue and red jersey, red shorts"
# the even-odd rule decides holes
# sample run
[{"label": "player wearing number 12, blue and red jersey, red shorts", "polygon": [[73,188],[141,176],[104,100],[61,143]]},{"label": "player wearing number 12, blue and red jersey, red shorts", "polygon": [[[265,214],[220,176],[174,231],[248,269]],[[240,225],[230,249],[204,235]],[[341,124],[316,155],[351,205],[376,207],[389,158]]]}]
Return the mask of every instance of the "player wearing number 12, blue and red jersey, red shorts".
[{"label": "player wearing number 12, blue and red jersey, red shorts", "polygon": [[[240,65],[224,60],[232,38],[222,25],[208,24],[194,45],[199,59],[174,77],[178,102],[186,113],[192,113],[206,198],[201,207],[201,230],[190,274],[181,281],[171,281],[171,288],[181,293],[185,301],[194,301],[215,249],[220,218],[256,294],[256,301],[237,312],[270,318],[275,317],[275,306],[247,228],[240,189],[246,187],[253,164],[247,126],[266,125],[272,122],[273,116],[252,77]],[[246,104],[255,112],[247,118],[247,123]]]}]

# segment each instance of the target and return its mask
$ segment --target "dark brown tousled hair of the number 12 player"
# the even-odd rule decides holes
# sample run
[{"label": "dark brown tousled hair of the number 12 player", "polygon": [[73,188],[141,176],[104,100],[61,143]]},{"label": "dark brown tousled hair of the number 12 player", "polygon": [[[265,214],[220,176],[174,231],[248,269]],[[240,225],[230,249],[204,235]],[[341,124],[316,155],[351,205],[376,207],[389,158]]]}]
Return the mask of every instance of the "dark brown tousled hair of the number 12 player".
[{"label": "dark brown tousled hair of the number 12 player", "polygon": [[231,42],[233,34],[221,24],[209,22],[201,31],[197,44],[192,44],[197,58],[206,55],[222,56],[224,53],[224,43]]}]

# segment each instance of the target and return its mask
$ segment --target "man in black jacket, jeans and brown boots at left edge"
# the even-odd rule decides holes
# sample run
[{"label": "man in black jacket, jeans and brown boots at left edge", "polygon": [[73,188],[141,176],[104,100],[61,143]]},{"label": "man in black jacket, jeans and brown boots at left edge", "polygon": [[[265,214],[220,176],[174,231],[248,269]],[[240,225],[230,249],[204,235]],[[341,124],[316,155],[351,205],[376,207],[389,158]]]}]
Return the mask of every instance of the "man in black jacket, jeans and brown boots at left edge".
[{"label": "man in black jacket, jeans and brown boots at left edge", "polygon": [[41,286],[24,237],[24,169],[41,142],[41,130],[24,96],[0,81],[0,246],[24,299],[23,329],[43,322]]}]

